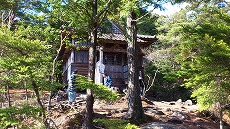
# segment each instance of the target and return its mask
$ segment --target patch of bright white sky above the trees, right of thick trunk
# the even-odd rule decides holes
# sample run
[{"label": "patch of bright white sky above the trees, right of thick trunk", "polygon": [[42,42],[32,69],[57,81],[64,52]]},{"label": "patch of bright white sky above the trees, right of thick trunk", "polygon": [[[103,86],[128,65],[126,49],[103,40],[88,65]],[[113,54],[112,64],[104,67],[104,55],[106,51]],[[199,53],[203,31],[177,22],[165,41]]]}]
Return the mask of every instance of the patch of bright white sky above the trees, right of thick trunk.
[{"label": "patch of bright white sky above the trees, right of thick trunk", "polygon": [[[188,5],[188,3],[183,4],[175,4],[172,5],[171,3],[166,3],[163,5],[165,10],[155,9],[153,13],[159,14],[159,15],[165,15],[165,16],[172,16],[175,12],[179,12],[182,8],[185,8]],[[152,10],[149,8],[148,10]]]}]

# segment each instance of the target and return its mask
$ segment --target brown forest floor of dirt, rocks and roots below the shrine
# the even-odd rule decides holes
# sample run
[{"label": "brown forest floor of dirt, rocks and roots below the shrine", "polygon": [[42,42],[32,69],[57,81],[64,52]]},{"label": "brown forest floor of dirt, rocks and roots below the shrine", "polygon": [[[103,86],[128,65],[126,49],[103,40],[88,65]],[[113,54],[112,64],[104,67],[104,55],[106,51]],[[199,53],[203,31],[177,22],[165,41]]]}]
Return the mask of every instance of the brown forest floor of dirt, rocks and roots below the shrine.
[{"label": "brown forest floor of dirt, rocks and roots below the shrine", "polygon": [[[32,92],[29,92],[32,97]],[[17,105],[17,100],[25,99],[24,90],[10,91],[12,102]],[[43,98],[48,98],[48,93],[43,93]],[[43,102],[47,105],[47,100]],[[49,116],[59,129],[80,129],[86,105],[86,95],[78,94],[75,104],[70,105],[66,100],[52,99],[52,108]],[[198,105],[189,101],[156,101],[153,99],[143,99],[142,106],[144,113],[148,116],[148,121],[138,125],[141,129],[218,129],[218,119],[208,112],[199,112]],[[128,102],[124,97],[116,102],[106,102],[95,99],[94,118],[123,119],[127,110]],[[77,119],[77,123],[76,123]],[[224,115],[224,129],[230,129],[230,118]],[[75,122],[75,123],[74,123]],[[102,128],[102,127],[98,127]]]}]

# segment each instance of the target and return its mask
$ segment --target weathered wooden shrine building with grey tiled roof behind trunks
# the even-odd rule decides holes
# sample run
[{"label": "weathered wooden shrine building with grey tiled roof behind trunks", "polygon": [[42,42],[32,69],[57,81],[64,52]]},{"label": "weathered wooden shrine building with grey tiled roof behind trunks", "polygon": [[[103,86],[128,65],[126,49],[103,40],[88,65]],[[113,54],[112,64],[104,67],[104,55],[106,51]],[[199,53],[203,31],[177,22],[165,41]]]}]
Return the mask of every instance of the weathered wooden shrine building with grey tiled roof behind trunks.
[{"label": "weathered wooden shrine building with grey tiled roof behind trunks", "polygon": [[[103,27],[98,29],[98,46],[96,56],[95,83],[103,83],[102,72],[107,73],[113,80],[112,86],[125,88],[127,82],[127,42],[123,31],[111,21],[107,21],[110,28],[107,33],[100,33]],[[143,74],[143,48],[155,42],[155,36],[138,35],[140,51],[138,53],[138,68]],[[72,44],[79,46],[80,50],[66,49],[63,45],[60,56],[63,60],[63,82],[67,84],[73,70],[78,74],[88,75],[88,46],[89,42],[76,43],[77,39],[72,39]],[[81,47],[85,46],[85,47]]]}]

